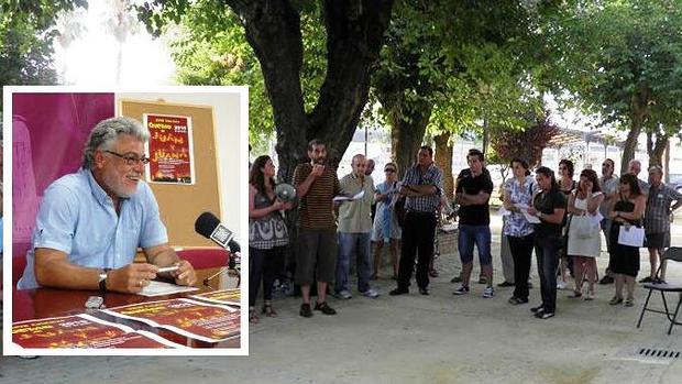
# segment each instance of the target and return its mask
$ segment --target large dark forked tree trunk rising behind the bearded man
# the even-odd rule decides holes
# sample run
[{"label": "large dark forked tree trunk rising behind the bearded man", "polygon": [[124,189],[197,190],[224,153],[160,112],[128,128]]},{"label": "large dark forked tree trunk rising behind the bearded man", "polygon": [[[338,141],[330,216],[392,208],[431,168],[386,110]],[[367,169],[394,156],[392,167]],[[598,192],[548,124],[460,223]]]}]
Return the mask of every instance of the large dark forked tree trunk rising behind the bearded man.
[{"label": "large dark forked tree trunk rising behind the bearded man", "polygon": [[[211,7],[218,14],[228,12],[222,1],[197,3]],[[224,3],[238,15],[263,72],[277,133],[279,175],[290,178],[296,164],[306,156],[307,142],[314,138],[323,140],[332,160],[338,160],[348,147],[367,101],[371,67],[378,57],[393,1],[322,2],[320,26],[327,36],[327,66],[317,89],[317,102],[309,111],[305,108],[301,87],[301,12],[318,6],[284,0],[227,0]],[[168,21],[178,22],[190,7],[185,0],[155,0],[143,4],[140,11],[152,31],[160,32]]]}]

